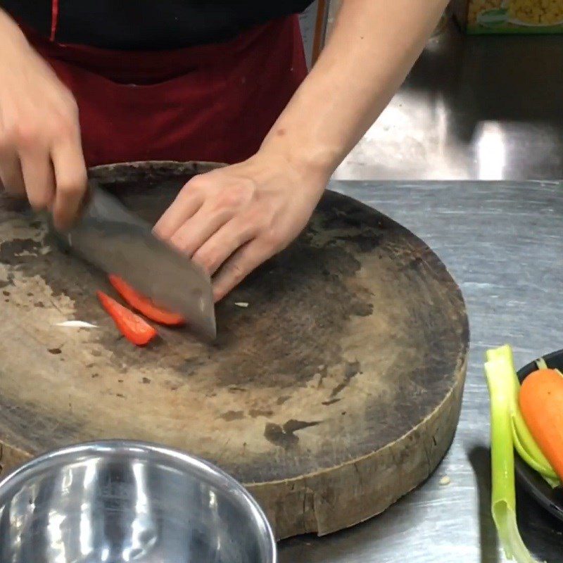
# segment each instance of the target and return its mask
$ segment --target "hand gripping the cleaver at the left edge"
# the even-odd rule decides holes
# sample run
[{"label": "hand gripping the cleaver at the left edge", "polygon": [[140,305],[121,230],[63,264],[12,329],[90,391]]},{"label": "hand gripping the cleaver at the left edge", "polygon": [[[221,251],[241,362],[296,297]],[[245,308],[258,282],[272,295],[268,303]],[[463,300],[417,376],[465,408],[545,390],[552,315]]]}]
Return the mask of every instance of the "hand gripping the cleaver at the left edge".
[{"label": "hand gripping the cleaver at the left edge", "polygon": [[66,229],[87,186],[77,103],[23,34],[5,25],[0,18],[0,184]]}]

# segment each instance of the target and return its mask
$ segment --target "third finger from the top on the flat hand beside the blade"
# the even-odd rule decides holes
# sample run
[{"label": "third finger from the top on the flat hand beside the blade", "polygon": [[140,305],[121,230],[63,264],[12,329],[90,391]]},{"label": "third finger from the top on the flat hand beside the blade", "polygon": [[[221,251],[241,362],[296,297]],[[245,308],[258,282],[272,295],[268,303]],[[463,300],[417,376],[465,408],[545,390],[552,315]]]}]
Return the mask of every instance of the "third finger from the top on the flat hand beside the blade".
[{"label": "third finger from the top on the flat hand beside the blade", "polygon": [[205,241],[192,258],[213,276],[230,255],[253,239],[256,231],[257,227],[252,222],[236,217]]}]

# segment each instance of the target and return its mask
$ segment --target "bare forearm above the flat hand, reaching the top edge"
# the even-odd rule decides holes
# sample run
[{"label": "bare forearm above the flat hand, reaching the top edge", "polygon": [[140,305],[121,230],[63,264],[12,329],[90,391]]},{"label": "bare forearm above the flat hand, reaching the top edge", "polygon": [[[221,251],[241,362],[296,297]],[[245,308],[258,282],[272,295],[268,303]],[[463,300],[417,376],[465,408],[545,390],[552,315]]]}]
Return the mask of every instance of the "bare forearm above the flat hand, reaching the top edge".
[{"label": "bare forearm above the flat hand, reaching the top edge", "polygon": [[405,80],[447,0],[343,0],[327,46],[262,144],[328,178]]}]

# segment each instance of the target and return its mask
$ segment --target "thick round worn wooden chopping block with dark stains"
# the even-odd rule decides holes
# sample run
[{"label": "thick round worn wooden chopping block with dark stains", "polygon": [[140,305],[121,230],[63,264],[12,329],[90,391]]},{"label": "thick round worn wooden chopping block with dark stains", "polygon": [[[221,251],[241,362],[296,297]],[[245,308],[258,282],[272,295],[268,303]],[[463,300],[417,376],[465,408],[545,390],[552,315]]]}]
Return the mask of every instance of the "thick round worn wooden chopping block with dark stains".
[{"label": "thick round worn wooden chopping block with dark stains", "polygon": [[[154,221],[210,167],[94,174]],[[79,441],[156,441],[245,483],[285,538],[385,510],[453,439],[468,348],[460,290],[422,241],[358,201],[327,192],[298,241],[218,306],[214,346],[183,330],[146,349],[120,338],[94,296],[110,291],[103,275],[6,201],[0,241],[4,470]],[[70,319],[99,328],[56,327]]]}]

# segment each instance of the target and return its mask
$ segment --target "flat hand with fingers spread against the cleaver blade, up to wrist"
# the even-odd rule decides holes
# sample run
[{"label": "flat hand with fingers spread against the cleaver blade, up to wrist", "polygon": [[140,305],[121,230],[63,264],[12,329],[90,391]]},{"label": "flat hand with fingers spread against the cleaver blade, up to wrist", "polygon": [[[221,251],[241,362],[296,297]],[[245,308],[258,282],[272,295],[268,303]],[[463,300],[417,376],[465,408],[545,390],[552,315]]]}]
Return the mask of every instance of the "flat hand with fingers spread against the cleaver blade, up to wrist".
[{"label": "flat hand with fingers spread against the cleaver blade, up to wrist", "polygon": [[327,182],[313,176],[258,153],[192,178],[155,233],[210,275],[217,272],[213,293],[219,301],[300,234]]}]

